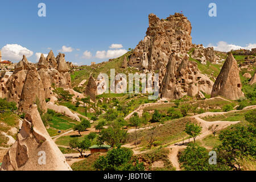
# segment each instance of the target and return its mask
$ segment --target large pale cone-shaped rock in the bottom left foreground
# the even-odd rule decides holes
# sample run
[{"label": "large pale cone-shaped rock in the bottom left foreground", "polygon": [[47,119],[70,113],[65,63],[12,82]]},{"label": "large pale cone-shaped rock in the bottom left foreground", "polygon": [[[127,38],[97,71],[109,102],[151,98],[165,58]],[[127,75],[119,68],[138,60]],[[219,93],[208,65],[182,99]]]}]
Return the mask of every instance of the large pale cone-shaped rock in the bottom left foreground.
[{"label": "large pale cone-shaped rock in the bottom left foreground", "polygon": [[3,158],[0,169],[2,171],[72,170],[47,133],[36,105],[32,105],[25,115],[16,142]]}]

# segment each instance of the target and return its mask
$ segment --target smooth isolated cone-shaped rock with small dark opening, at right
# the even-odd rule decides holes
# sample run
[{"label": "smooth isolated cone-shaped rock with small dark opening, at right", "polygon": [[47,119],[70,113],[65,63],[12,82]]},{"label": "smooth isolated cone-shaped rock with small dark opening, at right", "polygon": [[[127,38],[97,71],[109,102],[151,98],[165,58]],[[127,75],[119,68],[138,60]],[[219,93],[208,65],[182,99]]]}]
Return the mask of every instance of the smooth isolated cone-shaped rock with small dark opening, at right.
[{"label": "smooth isolated cone-shaped rock with small dark opening, at right", "polygon": [[239,69],[232,53],[229,53],[220,74],[214,82],[211,97],[216,96],[223,96],[230,100],[243,97]]}]

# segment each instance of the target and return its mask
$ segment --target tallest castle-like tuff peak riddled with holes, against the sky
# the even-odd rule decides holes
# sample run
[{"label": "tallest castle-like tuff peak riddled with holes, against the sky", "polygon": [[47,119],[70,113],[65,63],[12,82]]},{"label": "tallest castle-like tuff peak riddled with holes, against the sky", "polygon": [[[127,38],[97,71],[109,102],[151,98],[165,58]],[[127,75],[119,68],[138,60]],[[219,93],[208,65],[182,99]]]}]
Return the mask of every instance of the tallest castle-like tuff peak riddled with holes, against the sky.
[{"label": "tallest castle-like tuff peak riddled with holes, against the sky", "polygon": [[149,71],[159,70],[159,77],[163,77],[171,53],[184,55],[191,49],[191,23],[180,13],[161,20],[150,14],[148,22],[146,36],[135,47],[128,65]]}]

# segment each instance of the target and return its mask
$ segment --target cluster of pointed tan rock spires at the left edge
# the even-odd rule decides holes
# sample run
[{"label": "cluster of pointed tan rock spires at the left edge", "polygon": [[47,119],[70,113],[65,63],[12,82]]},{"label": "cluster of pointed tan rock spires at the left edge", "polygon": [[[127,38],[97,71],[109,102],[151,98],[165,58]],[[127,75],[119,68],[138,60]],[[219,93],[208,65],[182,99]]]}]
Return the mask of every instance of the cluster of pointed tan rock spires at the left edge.
[{"label": "cluster of pointed tan rock spires at the left edge", "polygon": [[[36,69],[28,63],[26,56],[16,64],[12,75],[1,76],[0,96],[15,101],[19,111],[26,113],[32,104],[39,104],[46,110],[46,98],[51,98],[52,84],[64,89],[72,88],[69,68],[65,55],[59,53],[55,58],[50,51],[47,58],[41,55]],[[8,75],[9,74],[9,75]],[[8,77],[8,78],[6,78]]]}]

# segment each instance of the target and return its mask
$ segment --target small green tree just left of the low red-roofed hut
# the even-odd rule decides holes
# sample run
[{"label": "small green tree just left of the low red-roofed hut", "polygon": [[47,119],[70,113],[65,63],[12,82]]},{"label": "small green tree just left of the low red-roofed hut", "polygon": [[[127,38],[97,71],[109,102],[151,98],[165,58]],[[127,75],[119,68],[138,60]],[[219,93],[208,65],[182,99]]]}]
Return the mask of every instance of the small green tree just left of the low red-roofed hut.
[{"label": "small green tree just left of the low red-roofed hut", "polygon": [[78,138],[73,138],[69,140],[69,148],[75,149],[80,152],[80,155],[82,156],[82,152],[84,150],[87,150],[91,145],[91,142],[88,138],[84,138],[81,142],[79,142]]}]

